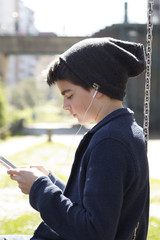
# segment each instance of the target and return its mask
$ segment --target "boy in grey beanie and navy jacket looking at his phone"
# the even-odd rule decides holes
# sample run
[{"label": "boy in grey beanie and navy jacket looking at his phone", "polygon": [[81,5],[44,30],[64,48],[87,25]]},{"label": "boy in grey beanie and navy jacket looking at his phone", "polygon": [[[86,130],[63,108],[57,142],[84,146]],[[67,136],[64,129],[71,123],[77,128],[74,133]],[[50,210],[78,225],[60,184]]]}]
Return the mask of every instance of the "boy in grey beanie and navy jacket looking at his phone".
[{"label": "boy in grey beanie and navy jacket looking at his phone", "polygon": [[129,77],[145,69],[143,45],[113,38],[83,40],[50,66],[63,108],[96,125],[77,148],[64,186],[44,167],[11,169],[43,222],[31,239],[145,240],[149,173],[143,130],[123,107]]}]

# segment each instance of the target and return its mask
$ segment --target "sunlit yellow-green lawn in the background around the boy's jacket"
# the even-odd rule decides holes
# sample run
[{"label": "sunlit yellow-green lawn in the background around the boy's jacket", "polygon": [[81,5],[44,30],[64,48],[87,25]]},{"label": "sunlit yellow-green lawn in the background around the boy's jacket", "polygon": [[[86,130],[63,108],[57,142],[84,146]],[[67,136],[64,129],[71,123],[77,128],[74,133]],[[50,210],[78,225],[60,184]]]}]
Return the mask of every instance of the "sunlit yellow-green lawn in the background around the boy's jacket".
[{"label": "sunlit yellow-green lawn in the background around the boy's jacket", "polygon": [[[75,147],[69,150],[64,144],[44,142],[10,156],[9,160],[16,165],[43,164],[66,182],[72,164],[68,158],[73,160],[74,152]],[[151,179],[150,183],[151,207],[160,208],[160,180]],[[0,190],[0,205],[3,206],[0,209],[0,234],[32,234],[33,229],[36,229],[41,222],[41,218],[30,207],[28,196],[20,192],[17,183],[11,181],[5,172],[0,175]],[[150,216],[147,240],[159,240],[159,236],[160,216],[153,214]]]}]

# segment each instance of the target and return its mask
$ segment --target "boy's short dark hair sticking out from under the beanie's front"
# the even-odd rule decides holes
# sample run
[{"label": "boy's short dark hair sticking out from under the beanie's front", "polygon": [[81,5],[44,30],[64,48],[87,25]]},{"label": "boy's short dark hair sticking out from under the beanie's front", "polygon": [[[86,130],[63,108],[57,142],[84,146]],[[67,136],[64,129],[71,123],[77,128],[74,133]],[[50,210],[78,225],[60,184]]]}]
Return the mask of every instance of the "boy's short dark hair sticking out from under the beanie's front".
[{"label": "boy's short dark hair sticking out from under the beanie's front", "polygon": [[67,80],[75,85],[81,86],[87,91],[91,89],[91,86],[73,73],[61,58],[51,63],[47,73],[47,83],[49,86],[55,84],[58,80]]}]

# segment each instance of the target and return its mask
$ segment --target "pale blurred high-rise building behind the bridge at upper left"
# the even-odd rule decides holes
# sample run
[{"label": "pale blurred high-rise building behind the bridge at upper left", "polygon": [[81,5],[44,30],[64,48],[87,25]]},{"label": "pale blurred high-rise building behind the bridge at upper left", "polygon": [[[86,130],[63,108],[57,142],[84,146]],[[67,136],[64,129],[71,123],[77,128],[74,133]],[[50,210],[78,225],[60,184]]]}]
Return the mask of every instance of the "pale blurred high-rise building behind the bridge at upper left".
[{"label": "pale blurred high-rise building behind the bridge at upper left", "polygon": [[[37,35],[34,12],[21,0],[0,0],[0,35]],[[11,55],[6,84],[10,86],[35,75],[37,56]]]}]

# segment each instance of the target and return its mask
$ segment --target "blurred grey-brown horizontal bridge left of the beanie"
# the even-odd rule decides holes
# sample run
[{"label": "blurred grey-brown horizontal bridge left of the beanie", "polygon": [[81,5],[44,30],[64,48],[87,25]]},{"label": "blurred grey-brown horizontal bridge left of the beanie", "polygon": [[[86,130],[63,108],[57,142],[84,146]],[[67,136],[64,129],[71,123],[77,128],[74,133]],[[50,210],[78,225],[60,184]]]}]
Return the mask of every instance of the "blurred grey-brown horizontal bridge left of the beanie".
[{"label": "blurred grey-brown horizontal bridge left of the beanie", "polygon": [[86,37],[0,36],[0,77],[6,79],[9,55],[61,54]]}]

